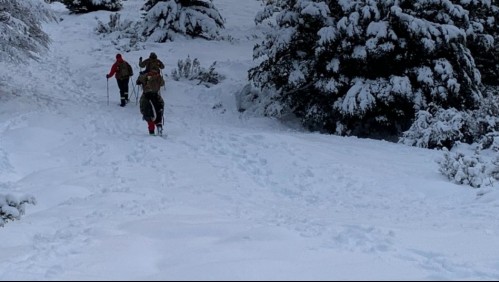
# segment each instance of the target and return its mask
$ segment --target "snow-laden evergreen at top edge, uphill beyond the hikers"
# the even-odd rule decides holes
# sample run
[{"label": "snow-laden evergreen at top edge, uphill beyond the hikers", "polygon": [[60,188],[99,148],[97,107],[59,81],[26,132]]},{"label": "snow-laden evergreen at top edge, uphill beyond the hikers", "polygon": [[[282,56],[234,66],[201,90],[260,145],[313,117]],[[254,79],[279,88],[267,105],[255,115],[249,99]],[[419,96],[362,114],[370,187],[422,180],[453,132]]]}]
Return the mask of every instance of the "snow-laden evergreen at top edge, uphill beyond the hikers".
[{"label": "snow-laden evergreen at top edge, uphill beyond the hikers", "polygon": [[224,19],[212,0],[147,0],[143,36],[154,42],[173,40],[176,34],[217,39]]}]

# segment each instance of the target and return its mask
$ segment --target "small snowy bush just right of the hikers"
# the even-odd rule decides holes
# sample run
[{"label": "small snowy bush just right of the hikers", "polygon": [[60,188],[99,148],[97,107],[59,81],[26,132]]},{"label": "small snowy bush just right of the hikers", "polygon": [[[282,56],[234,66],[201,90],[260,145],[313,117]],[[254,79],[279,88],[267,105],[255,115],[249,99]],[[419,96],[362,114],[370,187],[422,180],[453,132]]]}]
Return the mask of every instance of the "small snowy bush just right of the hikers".
[{"label": "small snowy bush just right of the hikers", "polygon": [[185,60],[178,60],[177,68],[172,70],[172,78],[177,81],[180,79],[199,80],[198,84],[210,87],[225,79],[224,75],[215,70],[216,63],[217,62],[213,62],[213,64],[206,69],[201,67],[197,58],[191,60],[190,56],[187,56],[187,59]]}]

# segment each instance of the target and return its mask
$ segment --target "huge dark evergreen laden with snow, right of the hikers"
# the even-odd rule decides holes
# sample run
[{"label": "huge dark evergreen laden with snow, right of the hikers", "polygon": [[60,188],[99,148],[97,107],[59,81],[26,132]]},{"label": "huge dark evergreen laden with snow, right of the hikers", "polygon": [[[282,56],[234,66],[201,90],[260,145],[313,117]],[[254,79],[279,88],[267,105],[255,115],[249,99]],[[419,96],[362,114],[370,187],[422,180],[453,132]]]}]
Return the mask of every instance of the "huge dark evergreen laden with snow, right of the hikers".
[{"label": "huge dark evergreen laden with snow, right of the hikers", "polygon": [[269,115],[292,112],[311,129],[342,135],[400,136],[430,104],[477,107],[480,72],[467,39],[478,33],[469,10],[487,3],[290,0],[254,48],[262,62],[250,80],[274,93]]}]

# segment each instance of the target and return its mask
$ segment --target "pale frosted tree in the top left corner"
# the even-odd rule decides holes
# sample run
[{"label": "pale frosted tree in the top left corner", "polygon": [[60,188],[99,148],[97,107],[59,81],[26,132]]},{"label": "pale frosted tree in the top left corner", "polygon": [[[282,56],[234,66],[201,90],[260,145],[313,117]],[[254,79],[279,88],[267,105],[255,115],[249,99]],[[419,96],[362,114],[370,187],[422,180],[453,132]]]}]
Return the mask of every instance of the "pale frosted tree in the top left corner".
[{"label": "pale frosted tree in the top left corner", "polygon": [[37,59],[50,38],[41,22],[55,16],[41,0],[0,0],[0,62]]}]

